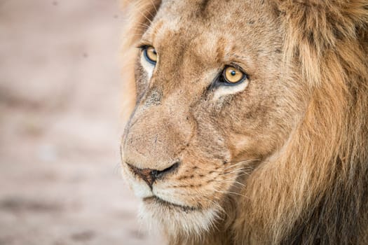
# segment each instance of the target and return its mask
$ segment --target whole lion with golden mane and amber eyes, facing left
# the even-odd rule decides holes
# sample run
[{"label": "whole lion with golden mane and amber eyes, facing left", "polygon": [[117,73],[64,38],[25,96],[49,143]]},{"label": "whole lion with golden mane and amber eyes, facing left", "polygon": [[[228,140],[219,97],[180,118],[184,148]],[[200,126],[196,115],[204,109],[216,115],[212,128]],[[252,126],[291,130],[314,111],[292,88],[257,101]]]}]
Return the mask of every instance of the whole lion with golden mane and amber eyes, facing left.
[{"label": "whole lion with golden mane and amber eyes, facing left", "polygon": [[144,223],[168,244],[368,244],[367,1],[125,9]]}]

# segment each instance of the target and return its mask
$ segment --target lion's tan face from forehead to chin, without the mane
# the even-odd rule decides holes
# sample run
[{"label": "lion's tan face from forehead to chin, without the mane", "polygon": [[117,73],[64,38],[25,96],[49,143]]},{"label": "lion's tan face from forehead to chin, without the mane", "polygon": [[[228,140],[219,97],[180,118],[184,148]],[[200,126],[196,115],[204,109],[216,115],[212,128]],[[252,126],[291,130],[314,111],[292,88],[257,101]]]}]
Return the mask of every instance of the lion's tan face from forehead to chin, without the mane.
[{"label": "lion's tan face from forehead to chin, without the mane", "polygon": [[163,1],[146,29],[123,175],[168,232],[207,230],[287,141],[303,88],[280,65],[283,32],[268,3],[243,0]]}]

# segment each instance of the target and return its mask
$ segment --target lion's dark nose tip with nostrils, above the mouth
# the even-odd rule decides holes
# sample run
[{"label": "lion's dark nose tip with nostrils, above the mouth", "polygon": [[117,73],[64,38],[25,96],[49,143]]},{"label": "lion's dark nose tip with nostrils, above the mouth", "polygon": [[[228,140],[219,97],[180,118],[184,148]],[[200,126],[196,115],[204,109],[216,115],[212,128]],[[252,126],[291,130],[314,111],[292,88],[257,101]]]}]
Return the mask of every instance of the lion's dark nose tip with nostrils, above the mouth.
[{"label": "lion's dark nose tip with nostrils, above the mouth", "polygon": [[133,165],[130,165],[128,163],[128,166],[130,169],[132,169],[132,172],[137,174],[139,178],[146,181],[146,183],[149,185],[149,187],[152,188],[153,183],[157,179],[163,179],[163,177],[167,174],[170,174],[171,172],[174,172],[177,167],[179,167],[179,162],[175,162],[175,164],[171,165],[170,167],[163,169],[163,170],[157,170],[157,169],[139,169]]}]

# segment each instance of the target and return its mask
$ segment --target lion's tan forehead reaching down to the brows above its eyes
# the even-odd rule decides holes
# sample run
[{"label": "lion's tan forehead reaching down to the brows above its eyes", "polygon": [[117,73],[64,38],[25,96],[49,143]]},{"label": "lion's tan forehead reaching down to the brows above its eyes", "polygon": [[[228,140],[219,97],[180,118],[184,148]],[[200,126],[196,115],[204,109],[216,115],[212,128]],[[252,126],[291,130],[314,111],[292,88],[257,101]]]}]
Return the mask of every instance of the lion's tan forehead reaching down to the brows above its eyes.
[{"label": "lion's tan forehead reaching down to the brows above its eyes", "polygon": [[261,74],[271,72],[268,63],[282,52],[282,33],[265,1],[163,1],[142,43],[154,45],[170,64],[187,57],[217,69],[236,60],[247,73]]}]

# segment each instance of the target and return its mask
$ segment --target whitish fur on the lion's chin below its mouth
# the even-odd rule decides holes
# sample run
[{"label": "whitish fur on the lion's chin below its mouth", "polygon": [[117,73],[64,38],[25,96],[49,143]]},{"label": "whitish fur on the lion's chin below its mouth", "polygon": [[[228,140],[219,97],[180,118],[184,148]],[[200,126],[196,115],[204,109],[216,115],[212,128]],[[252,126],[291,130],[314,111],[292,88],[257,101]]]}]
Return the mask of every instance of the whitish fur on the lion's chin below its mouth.
[{"label": "whitish fur on the lion's chin below its mouth", "polygon": [[208,232],[219,218],[215,209],[187,210],[180,207],[165,207],[157,203],[141,202],[139,220],[147,225],[149,232],[163,232],[169,236],[197,237]]}]

